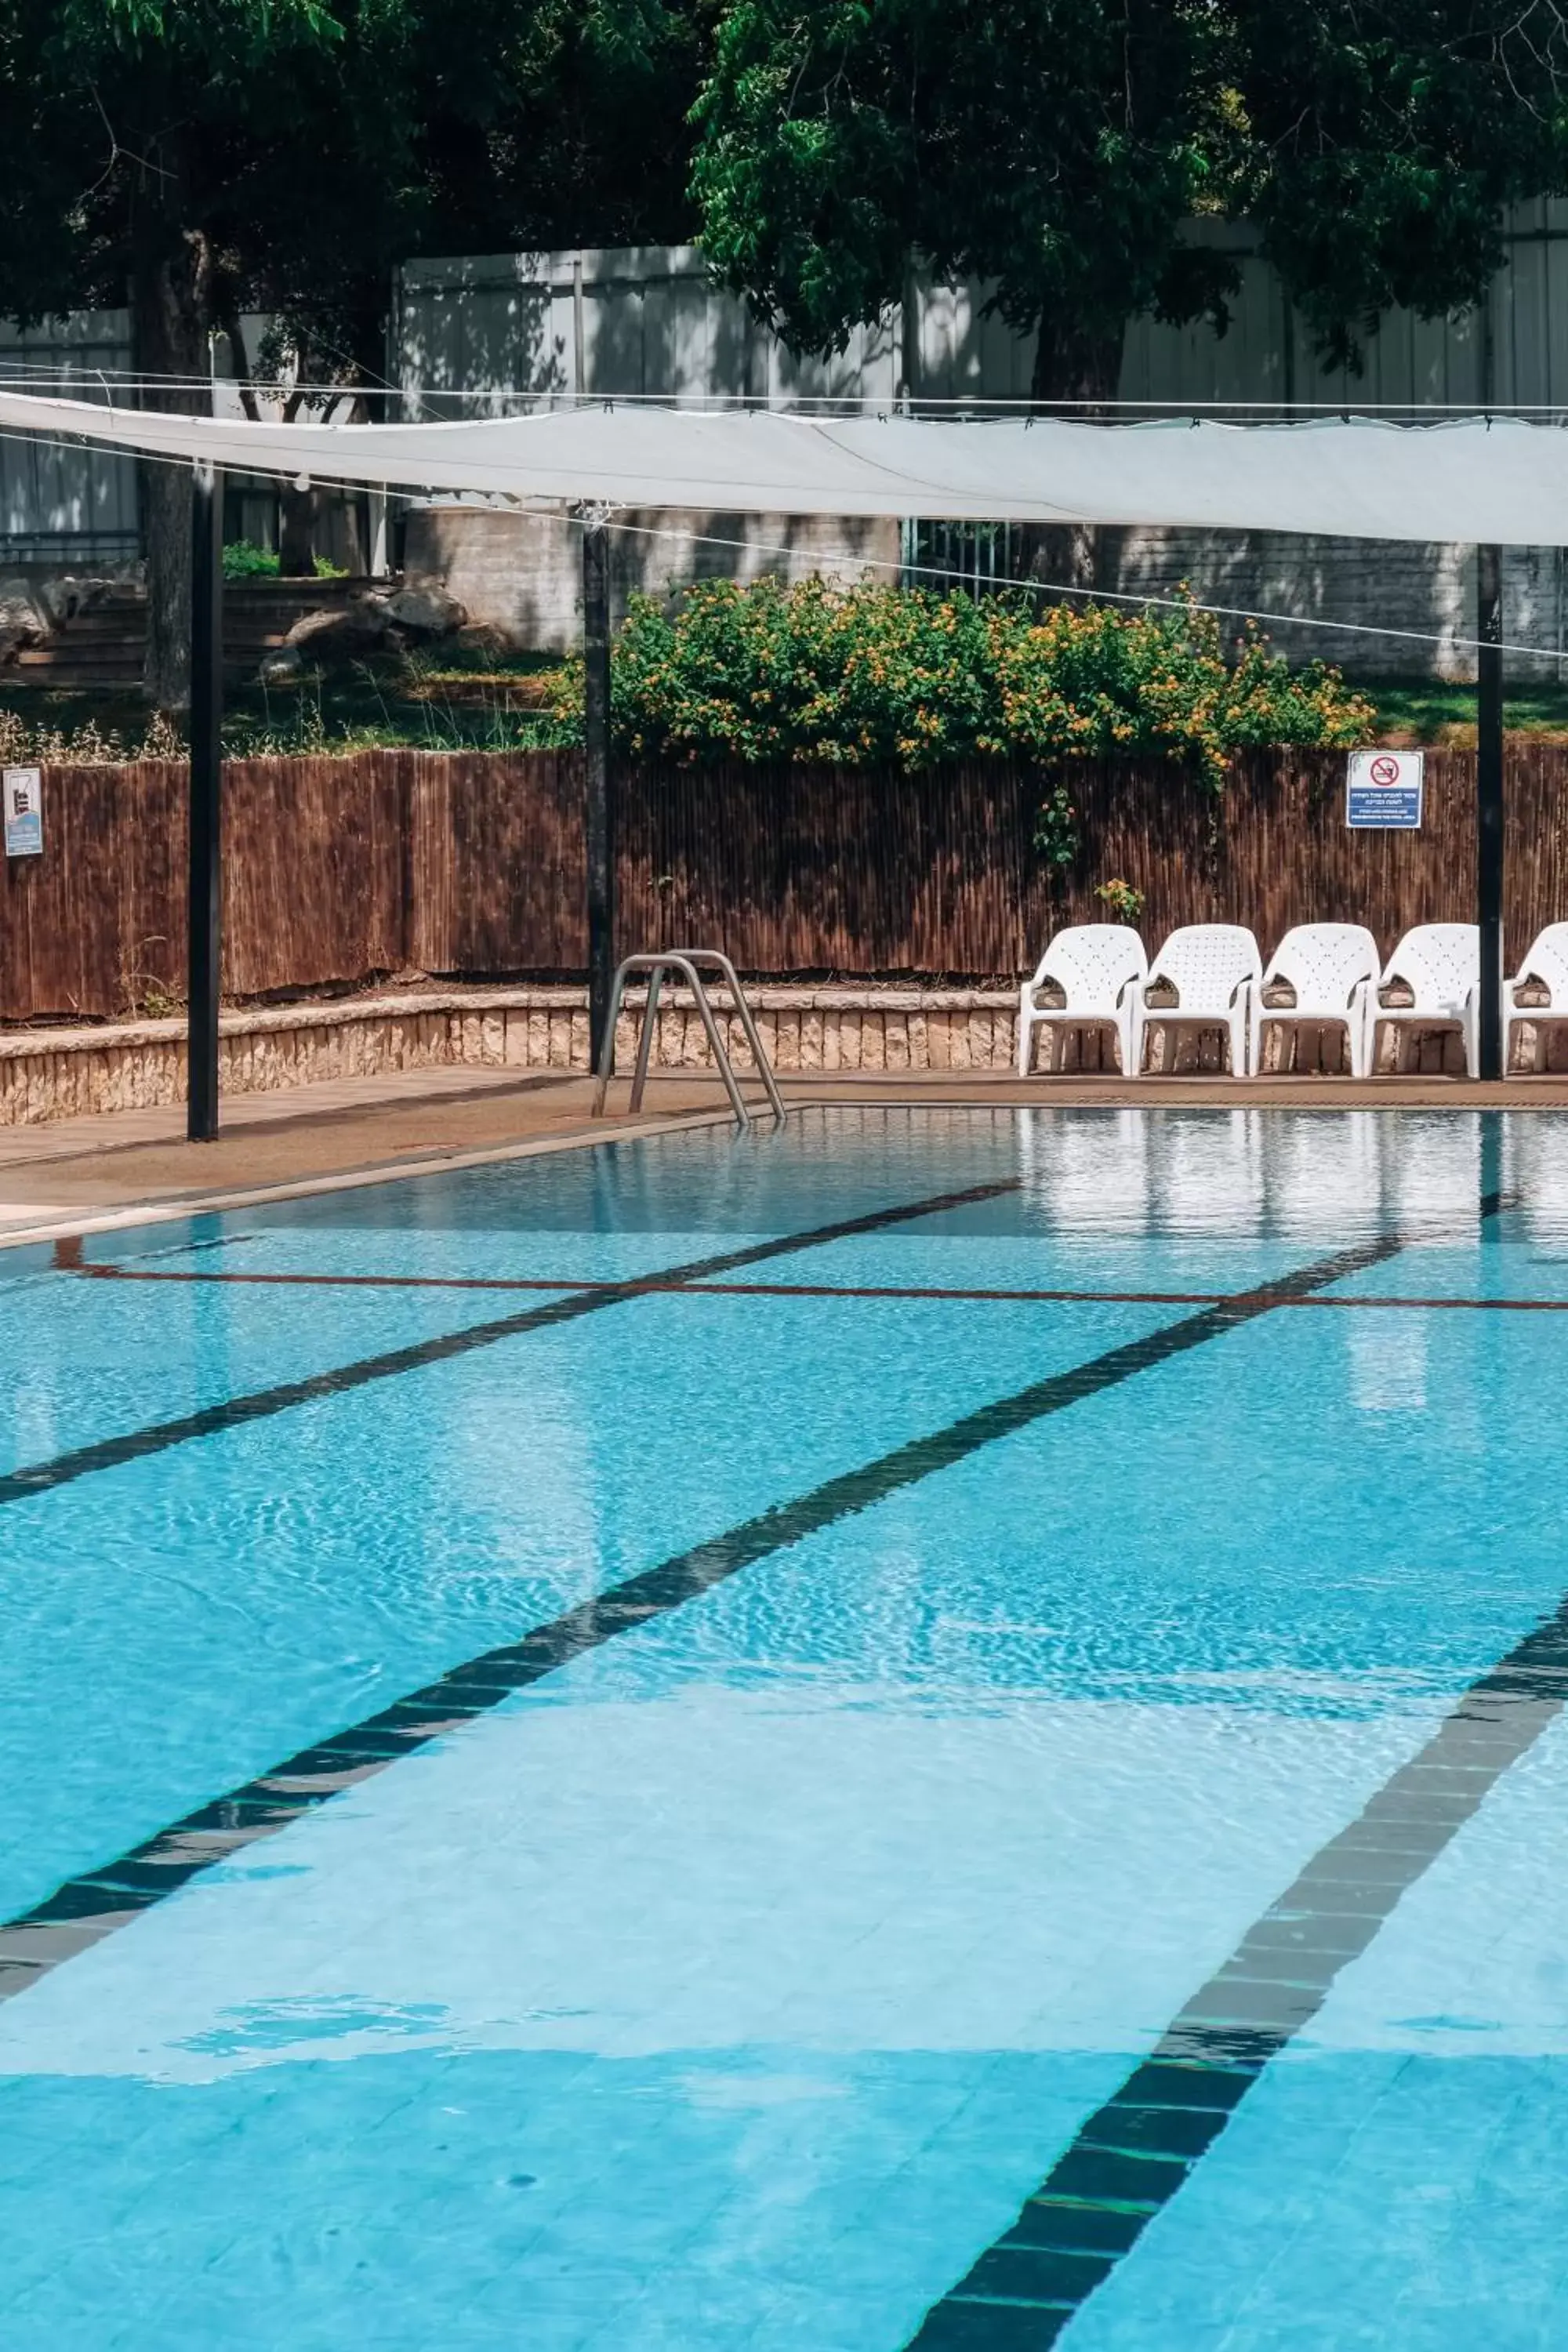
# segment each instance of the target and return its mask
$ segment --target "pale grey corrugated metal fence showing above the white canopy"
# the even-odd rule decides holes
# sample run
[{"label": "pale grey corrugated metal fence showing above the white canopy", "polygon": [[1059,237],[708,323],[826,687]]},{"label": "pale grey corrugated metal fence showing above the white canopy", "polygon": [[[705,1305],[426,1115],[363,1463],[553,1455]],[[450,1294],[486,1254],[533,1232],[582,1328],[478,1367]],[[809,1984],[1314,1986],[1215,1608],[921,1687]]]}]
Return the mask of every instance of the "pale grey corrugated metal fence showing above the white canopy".
[{"label": "pale grey corrugated metal fence showing above the white canopy", "polygon": [[[1389,310],[1363,367],[1324,367],[1246,223],[1192,221],[1232,254],[1229,327],[1128,329],[1121,397],[1427,407],[1568,405],[1568,200],[1533,198],[1505,223],[1505,268],[1481,310]],[[907,320],[858,327],[832,360],[795,358],[741,296],[708,280],[696,245],[404,261],[393,285],[393,374],[409,416],[494,416],[550,395],[748,400],[1027,400],[1034,336],[987,308],[987,285],[912,280]],[[1490,350],[1490,383],[1486,381]]]}]

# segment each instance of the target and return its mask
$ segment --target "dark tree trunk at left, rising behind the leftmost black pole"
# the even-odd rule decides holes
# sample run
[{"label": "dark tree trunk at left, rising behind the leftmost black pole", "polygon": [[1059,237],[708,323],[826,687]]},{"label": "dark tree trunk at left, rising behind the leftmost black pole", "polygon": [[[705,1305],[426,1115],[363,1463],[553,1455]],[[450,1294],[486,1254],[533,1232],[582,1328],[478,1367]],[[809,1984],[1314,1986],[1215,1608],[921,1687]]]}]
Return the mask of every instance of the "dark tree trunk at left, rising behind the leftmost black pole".
[{"label": "dark tree trunk at left, rising behind the leftmost black pole", "polygon": [[[207,348],[209,266],[200,235],[141,223],[132,266],[132,348],[146,407],[212,416]],[[148,557],[148,652],[143,694],[155,710],[190,703],[190,468],[141,463],[141,529]]]}]

